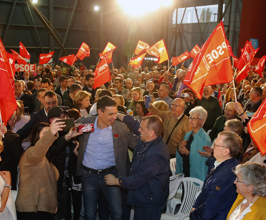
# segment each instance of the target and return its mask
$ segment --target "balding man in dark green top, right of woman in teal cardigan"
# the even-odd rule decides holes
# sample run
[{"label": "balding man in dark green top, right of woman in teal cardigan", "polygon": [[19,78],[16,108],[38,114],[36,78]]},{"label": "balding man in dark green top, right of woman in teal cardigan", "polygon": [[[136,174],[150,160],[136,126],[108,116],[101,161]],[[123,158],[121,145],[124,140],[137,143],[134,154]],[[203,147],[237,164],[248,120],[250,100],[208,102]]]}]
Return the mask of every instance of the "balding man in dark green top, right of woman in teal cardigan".
[{"label": "balding man in dark green top, right of woman in teal cardigan", "polygon": [[210,139],[211,141],[213,141],[217,135],[223,131],[224,129],[224,123],[228,120],[231,119],[238,119],[241,121],[241,118],[239,118],[238,116],[236,116],[236,110],[234,109],[234,102],[228,102],[226,104],[226,107],[224,109],[224,115],[220,116],[219,118],[216,119],[214,126],[212,128],[212,130],[209,133]]}]

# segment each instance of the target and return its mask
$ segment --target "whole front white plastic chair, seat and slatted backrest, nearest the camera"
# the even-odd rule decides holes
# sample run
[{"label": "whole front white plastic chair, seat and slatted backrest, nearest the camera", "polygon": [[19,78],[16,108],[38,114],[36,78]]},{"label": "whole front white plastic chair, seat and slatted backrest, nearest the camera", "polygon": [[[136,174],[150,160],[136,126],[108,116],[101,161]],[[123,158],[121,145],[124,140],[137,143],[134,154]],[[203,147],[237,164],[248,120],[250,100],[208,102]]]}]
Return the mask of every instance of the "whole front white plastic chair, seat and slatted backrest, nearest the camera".
[{"label": "whole front white plastic chair, seat and slatted backrest, nearest the camera", "polygon": [[[161,219],[179,219],[179,217],[183,216],[183,214],[189,213],[192,205],[196,200],[197,192],[202,190],[203,182],[199,179],[192,177],[183,177],[182,179],[180,179],[180,182],[183,182],[184,184],[184,198],[178,213],[176,213],[175,215],[172,213],[162,214]],[[175,208],[176,204],[173,205],[173,212]]]}]

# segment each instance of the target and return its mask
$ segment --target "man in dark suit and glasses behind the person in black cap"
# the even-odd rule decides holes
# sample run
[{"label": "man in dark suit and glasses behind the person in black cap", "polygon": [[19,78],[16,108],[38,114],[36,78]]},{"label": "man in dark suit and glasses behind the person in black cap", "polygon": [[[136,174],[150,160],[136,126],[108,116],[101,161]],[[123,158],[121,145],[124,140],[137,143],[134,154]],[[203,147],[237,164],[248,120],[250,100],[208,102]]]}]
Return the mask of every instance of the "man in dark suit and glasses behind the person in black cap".
[{"label": "man in dark suit and glasses behind the person in black cap", "polygon": [[[26,123],[21,129],[17,131],[17,134],[20,136],[20,139],[25,139],[29,136],[31,129],[37,122],[48,122],[49,119],[47,114],[52,107],[56,107],[57,98],[54,91],[48,91],[44,94],[44,108],[38,112],[34,112],[30,115],[30,121]],[[69,110],[67,106],[60,106],[63,110]]]}]

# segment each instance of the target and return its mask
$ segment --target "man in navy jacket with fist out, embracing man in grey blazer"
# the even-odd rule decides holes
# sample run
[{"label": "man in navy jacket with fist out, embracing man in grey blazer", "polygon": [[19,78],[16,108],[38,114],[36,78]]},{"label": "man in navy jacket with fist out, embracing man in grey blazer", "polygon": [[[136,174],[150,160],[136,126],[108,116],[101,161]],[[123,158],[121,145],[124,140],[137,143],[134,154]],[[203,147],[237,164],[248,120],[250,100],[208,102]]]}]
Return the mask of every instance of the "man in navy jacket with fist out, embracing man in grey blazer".
[{"label": "man in navy jacket with fist out, embracing man in grey blazer", "polygon": [[157,115],[142,118],[141,123],[131,115],[117,113],[138,137],[129,176],[105,176],[106,185],[128,189],[127,203],[134,205],[134,219],[159,220],[169,195],[170,157],[161,134],[163,121]]}]

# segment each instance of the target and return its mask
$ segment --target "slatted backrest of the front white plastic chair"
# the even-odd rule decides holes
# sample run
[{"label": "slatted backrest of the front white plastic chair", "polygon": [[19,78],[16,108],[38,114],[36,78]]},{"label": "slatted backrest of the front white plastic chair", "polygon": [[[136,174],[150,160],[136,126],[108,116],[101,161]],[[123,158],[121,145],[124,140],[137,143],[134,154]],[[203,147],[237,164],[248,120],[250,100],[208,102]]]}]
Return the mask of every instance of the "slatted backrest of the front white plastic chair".
[{"label": "slatted backrest of the front white plastic chair", "polygon": [[184,177],[180,180],[184,184],[184,198],[178,213],[188,213],[196,200],[197,192],[202,190],[203,182],[200,179]]}]

